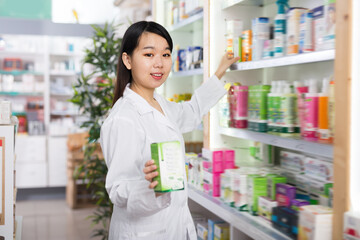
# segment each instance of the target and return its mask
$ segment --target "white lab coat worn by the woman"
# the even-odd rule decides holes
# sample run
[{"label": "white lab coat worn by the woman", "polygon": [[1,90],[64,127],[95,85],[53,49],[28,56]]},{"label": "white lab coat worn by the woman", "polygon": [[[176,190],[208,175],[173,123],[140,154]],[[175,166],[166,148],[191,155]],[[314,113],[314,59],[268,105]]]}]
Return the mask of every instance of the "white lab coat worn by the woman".
[{"label": "white lab coat worn by the woman", "polygon": [[[195,240],[196,232],[185,190],[155,197],[143,168],[151,159],[150,144],[180,141],[194,130],[202,116],[226,93],[224,84],[211,77],[195,90],[191,101],[174,103],[154,93],[165,116],[126,87],[101,127],[100,143],[108,166],[106,189],[114,204],[110,240]],[[185,160],[184,160],[185,174]]]}]

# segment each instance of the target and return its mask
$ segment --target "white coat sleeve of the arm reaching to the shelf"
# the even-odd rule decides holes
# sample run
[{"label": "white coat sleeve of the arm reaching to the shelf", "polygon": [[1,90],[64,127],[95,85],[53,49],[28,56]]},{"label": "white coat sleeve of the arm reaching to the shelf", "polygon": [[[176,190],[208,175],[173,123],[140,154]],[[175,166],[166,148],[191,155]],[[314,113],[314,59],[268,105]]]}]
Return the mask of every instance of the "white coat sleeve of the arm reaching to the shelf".
[{"label": "white coat sleeve of the arm reaching to the shelf", "polygon": [[201,123],[202,117],[226,94],[224,83],[216,75],[195,90],[188,102],[178,103],[174,107],[176,122],[182,133],[193,131]]}]

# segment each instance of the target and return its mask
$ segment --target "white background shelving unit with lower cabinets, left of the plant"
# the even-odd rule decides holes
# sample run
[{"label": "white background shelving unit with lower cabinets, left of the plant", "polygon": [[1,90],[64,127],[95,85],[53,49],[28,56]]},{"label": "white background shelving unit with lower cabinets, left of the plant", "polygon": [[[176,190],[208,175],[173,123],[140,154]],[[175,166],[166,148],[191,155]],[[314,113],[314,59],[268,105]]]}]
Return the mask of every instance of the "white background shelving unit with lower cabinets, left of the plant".
[{"label": "white background shelving unit with lower cabinets, left of the plant", "polygon": [[[2,37],[11,44],[7,45],[9,48],[0,51],[0,60],[6,57],[20,58],[24,63],[32,62],[34,71],[0,70],[0,74],[13,75],[17,84],[22,82],[24,74],[34,75],[35,82],[41,83],[41,91],[30,91],[23,85],[24,92],[15,89],[2,91],[0,98],[10,99],[13,110],[17,111],[14,115],[18,116],[28,116],[26,105],[29,99],[42,101],[44,105],[39,113],[40,121],[43,121],[45,126],[44,134],[17,136],[17,187],[66,186],[67,134],[77,131],[75,128],[80,116],[68,105],[68,99],[72,97],[69,90],[72,90],[71,84],[80,72],[82,48],[87,41],[83,37],[43,35]],[[14,44],[19,46],[13,46]],[[54,86],[56,88],[53,88]],[[24,109],[14,109],[14,102],[25,106]]]}]

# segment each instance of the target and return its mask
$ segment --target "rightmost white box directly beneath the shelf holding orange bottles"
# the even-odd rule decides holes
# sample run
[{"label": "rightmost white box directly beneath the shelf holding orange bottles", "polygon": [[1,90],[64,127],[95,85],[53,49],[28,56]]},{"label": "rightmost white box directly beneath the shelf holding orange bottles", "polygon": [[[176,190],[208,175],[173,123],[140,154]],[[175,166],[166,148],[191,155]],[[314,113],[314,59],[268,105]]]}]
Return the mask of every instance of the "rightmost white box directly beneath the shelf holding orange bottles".
[{"label": "rightmost white box directly beneath the shelf holding orange bottles", "polygon": [[333,181],[333,164],[315,158],[305,158],[305,176],[323,182]]}]

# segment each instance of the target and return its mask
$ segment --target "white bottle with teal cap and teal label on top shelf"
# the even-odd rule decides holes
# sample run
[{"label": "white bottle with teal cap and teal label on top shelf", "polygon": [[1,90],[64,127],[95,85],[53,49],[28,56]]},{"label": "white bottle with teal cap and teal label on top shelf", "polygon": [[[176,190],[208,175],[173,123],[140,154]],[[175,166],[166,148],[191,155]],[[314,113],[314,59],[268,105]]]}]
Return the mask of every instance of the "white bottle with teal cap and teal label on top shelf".
[{"label": "white bottle with teal cap and teal label on top shelf", "polygon": [[286,14],[285,7],[289,8],[288,0],[277,0],[278,13],[274,19],[274,55],[281,57],[286,51]]}]

